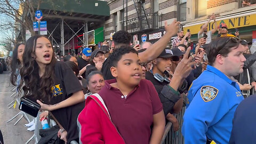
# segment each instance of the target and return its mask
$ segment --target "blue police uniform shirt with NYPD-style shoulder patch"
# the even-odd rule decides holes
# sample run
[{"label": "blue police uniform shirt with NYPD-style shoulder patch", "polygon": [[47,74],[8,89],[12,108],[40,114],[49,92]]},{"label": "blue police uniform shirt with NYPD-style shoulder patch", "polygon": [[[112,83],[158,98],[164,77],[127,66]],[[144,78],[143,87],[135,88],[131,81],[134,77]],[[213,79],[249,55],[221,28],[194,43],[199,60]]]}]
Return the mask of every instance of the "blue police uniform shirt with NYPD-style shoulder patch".
[{"label": "blue police uniform shirt with NYPD-style shoulder patch", "polygon": [[206,137],[228,143],[235,110],[243,99],[235,81],[208,65],[188,91],[182,126],[185,143],[206,143]]}]

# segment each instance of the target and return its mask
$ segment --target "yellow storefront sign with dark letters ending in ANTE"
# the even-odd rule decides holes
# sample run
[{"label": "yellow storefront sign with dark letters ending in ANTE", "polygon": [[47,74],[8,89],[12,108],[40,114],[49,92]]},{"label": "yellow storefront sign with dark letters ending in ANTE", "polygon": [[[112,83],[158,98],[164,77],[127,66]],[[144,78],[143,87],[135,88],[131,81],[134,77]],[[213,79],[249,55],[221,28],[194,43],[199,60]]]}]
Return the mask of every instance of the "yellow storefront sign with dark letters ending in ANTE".
[{"label": "yellow storefront sign with dark letters ending in ANTE", "polygon": [[[228,26],[228,29],[254,26],[254,25],[256,25],[256,14],[244,15],[242,17],[230,18],[230,19],[226,19],[226,20],[219,20],[216,22],[217,22],[217,26],[219,26],[222,23],[226,23],[226,25]],[[197,34],[202,25],[203,25],[203,23],[201,23],[199,25],[188,26],[188,27],[186,27],[186,25],[185,25],[183,30],[187,31],[188,29],[190,29],[191,34]],[[213,28],[214,28],[214,22],[213,21],[209,22],[208,30],[211,30]]]}]

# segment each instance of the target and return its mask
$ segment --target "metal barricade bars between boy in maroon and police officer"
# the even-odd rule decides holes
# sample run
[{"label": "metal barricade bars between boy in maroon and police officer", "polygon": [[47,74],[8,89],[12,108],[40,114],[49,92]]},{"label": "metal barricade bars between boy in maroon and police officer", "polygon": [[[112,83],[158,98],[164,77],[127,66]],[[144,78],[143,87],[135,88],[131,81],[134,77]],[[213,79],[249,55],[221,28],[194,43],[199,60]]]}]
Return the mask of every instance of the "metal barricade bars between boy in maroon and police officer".
[{"label": "metal barricade bars between boy in maroon and police officer", "polygon": [[182,144],[184,139],[181,133],[181,127],[183,124],[183,115],[185,113],[186,107],[182,107],[178,115],[174,115],[179,122],[179,130],[177,132],[173,131],[173,125],[171,122],[168,122],[165,126],[164,136],[161,141],[161,144]]}]

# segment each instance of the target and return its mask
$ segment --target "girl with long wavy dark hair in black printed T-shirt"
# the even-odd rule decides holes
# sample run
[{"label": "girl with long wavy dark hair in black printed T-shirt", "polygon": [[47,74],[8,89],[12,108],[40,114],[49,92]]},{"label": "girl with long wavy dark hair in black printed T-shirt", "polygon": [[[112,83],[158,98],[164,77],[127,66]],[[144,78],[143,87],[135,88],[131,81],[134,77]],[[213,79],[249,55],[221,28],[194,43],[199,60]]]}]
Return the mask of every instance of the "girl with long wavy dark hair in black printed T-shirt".
[{"label": "girl with long wavy dark hair in black printed T-shirt", "polygon": [[[84,107],[83,88],[65,62],[56,61],[52,44],[43,35],[28,39],[20,70],[19,92],[51,111],[67,131],[67,142],[78,140],[76,119]],[[22,86],[24,84],[24,86]]]}]

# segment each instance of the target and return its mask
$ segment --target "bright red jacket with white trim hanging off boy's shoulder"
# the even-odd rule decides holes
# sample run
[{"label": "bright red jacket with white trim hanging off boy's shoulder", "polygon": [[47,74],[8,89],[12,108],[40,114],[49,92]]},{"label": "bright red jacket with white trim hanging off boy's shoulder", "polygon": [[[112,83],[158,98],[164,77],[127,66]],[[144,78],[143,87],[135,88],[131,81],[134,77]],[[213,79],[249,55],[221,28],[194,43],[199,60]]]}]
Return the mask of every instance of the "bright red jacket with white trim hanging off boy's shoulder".
[{"label": "bright red jacket with white trim hanging off boy's shoulder", "polygon": [[85,107],[78,115],[80,143],[125,143],[112,123],[107,107],[99,94],[87,97]]}]

